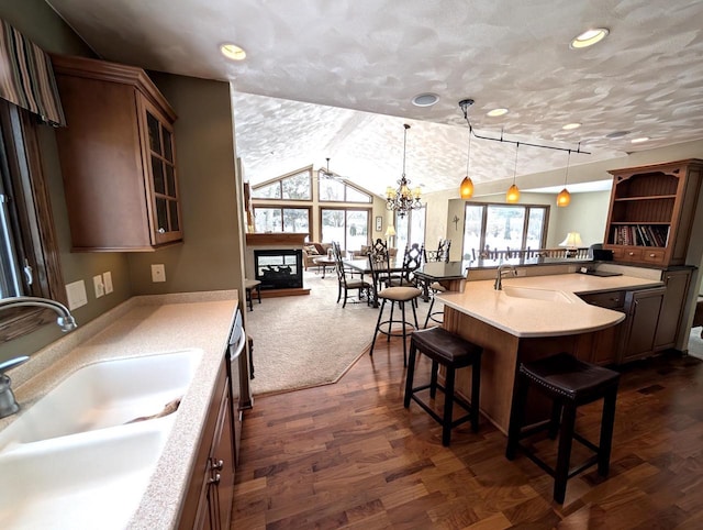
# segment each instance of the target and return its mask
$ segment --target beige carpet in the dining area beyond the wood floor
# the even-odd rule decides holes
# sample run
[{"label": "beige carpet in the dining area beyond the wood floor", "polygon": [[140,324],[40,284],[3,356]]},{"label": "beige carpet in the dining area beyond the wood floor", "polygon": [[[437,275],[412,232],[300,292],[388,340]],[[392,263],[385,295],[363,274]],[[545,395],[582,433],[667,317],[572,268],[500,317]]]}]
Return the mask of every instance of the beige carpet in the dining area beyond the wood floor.
[{"label": "beige carpet in the dining area beyond the wood floor", "polygon": [[[368,351],[378,309],[337,299],[337,278],[330,270],[306,272],[309,296],[254,300],[246,331],[254,339],[255,396],[334,383]],[[422,325],[429,303],[420,301]],[[409,318],[412,318],[410,308]],[[386,308],[388,314],[389,309]],[[384,336],[382,338],[384,339]]]}]

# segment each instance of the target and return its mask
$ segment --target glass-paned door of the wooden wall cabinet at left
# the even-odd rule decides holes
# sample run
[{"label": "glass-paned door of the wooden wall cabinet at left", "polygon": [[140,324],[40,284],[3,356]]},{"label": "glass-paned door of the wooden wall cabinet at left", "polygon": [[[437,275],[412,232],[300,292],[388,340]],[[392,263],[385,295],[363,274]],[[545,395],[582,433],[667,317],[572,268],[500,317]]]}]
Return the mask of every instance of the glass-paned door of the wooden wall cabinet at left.
[{"label": "glass-paned door of the wooden wall cabinet at left", "polygon": [[174,132],[158,113],[145,110],[148,134],[149,169],[152,175],[154,239],[165,243],[180,239],[178,181],[174,157]]}]

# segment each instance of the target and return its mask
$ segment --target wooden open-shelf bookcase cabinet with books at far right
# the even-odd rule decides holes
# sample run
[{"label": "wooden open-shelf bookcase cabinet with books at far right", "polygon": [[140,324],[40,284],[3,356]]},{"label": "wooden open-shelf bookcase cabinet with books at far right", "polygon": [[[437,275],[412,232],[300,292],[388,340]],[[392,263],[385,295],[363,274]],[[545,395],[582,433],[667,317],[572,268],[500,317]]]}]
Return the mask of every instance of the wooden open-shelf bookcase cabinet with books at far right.
[{"label": "wooden open-shelf bookcase cabinet with books at far right", "polygon": [[613,175],[605,249],[618,262],[683,265],[703,161],[632,167]]}]

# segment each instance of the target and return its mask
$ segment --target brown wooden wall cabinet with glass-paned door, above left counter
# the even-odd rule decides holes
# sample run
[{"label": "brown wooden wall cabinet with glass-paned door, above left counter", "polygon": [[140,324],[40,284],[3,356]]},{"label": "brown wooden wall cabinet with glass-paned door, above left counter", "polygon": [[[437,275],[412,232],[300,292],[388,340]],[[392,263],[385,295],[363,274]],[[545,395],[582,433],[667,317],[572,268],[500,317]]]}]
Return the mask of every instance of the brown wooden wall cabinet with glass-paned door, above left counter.
[{"label": "brown wooden wall cabinet with glass-paned door, above left counter", "polygon": [[176,113],[141,68],[53,55],[67,126],[56,132],[74,251],[182,240]]}]

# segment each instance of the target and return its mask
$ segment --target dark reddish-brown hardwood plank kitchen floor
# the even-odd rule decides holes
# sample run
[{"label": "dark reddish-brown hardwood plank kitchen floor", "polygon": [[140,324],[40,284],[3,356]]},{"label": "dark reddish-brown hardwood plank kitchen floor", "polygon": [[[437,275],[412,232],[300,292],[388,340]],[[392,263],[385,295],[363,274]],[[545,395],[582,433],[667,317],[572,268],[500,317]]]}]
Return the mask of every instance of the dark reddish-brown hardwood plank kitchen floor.
[{"label": "dark reddish-brown hardwood plank kitchen floor", "polygon": [[[505,437],[483,418],[478,434],[461,426],[443,448],[439,426],[416,404],[403,408],[404,376],[394,340],[335,385],[257,398],[232,529],[703,528],[698,358],[623,371],[610,476],[590,468],[570,479],[562,506],[534,463],[505,460]],[[600,406],[579,410],[577,428],[596,441]]]}]

